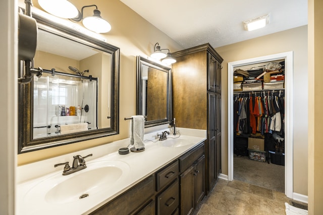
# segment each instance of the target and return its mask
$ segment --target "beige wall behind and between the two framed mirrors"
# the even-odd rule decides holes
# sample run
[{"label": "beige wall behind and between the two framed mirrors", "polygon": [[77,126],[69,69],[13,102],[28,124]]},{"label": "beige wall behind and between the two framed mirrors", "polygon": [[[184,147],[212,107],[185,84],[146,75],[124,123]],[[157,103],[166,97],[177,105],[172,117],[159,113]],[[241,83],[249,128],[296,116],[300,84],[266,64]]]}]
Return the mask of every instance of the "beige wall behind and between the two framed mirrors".
[{"label": "beige wall behind and between the two framed mirrors", "polygon": [[[19,5],[24,5],[23,2],[23,0],[19,0]],[[93,4],[90,0],[71,0],[71,2],[79,9],[84,5]],[[34,7],[39,8],[37,1],[33,1],[33,4]],[[101,36],[106,38],[107,43],[120,48],[120,134],[20,154],[18,155],[18,165],[76,152],[129,137],[129,120],[125,121],[124,117],[130,117],[136,113],[136,56],[150,55],[156,42],[162,48],[169,48],[171,52],[183,49],[178,43],[120,1],[97,0],[95,4],[101,12],[101,17],[112,25],[112,30],[101,34]],[[89,11],[92,12],[93,10],[89,9]]]}]

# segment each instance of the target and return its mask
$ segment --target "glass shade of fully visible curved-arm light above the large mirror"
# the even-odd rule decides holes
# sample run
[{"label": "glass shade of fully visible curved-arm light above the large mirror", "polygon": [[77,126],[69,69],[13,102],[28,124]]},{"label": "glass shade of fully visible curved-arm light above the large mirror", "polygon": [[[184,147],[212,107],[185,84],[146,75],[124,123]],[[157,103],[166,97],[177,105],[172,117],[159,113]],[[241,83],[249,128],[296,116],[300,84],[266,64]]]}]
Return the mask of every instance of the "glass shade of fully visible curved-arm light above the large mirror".
[{"label": "glass shade of fully visible curved-arm light above the large mirror", "polygon": [[83,25],[85,28],[96,33],[106,33],[111,30],[111,25],[99,17],[85,17],[83,19]]}]

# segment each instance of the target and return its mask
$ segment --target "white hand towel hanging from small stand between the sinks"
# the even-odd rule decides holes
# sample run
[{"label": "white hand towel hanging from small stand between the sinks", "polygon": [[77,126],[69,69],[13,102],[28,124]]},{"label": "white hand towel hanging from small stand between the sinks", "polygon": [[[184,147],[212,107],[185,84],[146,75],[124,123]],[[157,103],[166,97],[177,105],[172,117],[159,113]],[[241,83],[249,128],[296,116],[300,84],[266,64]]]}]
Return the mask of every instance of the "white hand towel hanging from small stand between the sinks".
[{"label": "white hand towel hanging from small stand between the sinks", "polygon": [[130,120],[130,144],[134,145],[135,149],[143,148],[143,136],[145,120],[141,115],[132,116]]}]

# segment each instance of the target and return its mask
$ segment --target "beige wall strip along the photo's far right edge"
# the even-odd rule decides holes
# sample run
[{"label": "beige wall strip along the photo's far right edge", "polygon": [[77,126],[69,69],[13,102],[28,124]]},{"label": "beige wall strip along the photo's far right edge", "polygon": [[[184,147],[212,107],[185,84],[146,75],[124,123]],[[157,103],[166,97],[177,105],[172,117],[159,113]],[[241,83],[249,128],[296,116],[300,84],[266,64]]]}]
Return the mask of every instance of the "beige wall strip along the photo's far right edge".
[{"label": "beige wall strip along the photo's far right edge", "polygon": [[308,214],[323,211],[323,2],[308,1]]}]

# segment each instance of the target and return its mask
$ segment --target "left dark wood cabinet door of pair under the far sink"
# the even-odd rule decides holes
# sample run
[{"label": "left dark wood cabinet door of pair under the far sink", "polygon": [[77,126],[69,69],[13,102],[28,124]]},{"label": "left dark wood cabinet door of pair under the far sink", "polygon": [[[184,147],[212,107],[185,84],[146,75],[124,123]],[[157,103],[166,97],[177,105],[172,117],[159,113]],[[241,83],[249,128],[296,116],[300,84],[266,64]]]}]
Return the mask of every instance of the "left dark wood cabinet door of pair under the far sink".
[{"label": "left dark wood cabinet door of pair under the far sink", "polygon": [[180,175],[180,193],[182,215],[192,214],[194,211],[194,166],[189,167]]}]

